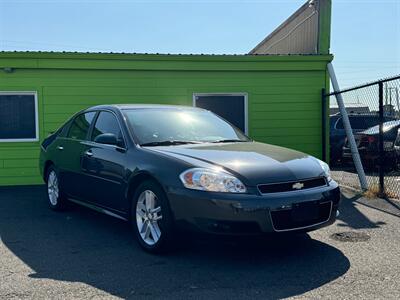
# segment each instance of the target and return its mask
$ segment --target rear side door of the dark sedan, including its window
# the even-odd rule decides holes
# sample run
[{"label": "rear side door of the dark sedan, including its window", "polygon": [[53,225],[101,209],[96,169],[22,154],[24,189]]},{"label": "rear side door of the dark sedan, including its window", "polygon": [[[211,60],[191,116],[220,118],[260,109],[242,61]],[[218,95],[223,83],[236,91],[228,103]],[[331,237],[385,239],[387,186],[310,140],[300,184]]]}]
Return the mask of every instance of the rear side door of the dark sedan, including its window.
[{"label": "rear side door of the dark sedan, including its window", "polygon": [[95,115],[95,111],[77,115],[69,126],[67,134],[56,141],[55,165],[60,172],[62,189],[71,198],[82,199],[84,196],[81,153]]}]

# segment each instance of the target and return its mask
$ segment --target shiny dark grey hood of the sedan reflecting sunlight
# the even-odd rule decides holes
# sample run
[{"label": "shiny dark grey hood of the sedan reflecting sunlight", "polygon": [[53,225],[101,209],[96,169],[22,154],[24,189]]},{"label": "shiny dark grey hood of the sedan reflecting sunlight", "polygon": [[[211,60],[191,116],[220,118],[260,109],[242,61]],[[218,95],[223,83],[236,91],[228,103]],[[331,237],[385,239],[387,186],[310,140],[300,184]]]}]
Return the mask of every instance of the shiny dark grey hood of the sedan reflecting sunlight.
[{"label": "shiny dark grey hood of the sedan reflecting sunlight", "polygon": [[222,167],[247,185],[296,181],[323,175],[318,160],[307,154],[258,142],[151,147],[194,167]]}]

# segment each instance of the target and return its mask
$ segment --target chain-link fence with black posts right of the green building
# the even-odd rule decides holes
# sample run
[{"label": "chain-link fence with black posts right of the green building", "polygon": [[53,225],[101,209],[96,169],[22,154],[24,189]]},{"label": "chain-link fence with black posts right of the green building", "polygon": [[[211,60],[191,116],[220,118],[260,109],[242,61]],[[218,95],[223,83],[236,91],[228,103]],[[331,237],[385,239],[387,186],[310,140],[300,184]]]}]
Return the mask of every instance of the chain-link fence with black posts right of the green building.
[{"label": "chain-link fence with black posts right of the green building", "polygon": [[369,190],[400,198],[400,76],[323,96],[329,100],[332,174],[339,183],[360,188],[335,98],[339,93],[344,99]]}]

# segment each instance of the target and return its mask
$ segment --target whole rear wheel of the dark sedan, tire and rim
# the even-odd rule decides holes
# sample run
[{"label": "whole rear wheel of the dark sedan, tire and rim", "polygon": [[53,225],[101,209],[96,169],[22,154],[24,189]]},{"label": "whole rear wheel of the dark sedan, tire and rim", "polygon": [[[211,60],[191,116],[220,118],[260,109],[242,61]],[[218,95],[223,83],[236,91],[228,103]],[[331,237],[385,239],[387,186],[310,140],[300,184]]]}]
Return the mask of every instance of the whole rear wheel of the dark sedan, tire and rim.
[{"label": "whole rear wheel of the dark sedan, tire and rim", "polygon": [[50,166],[46,173],[47,202],[52,210],[62,211],[66,208],[66,199],[60,188],[57,170]]}]

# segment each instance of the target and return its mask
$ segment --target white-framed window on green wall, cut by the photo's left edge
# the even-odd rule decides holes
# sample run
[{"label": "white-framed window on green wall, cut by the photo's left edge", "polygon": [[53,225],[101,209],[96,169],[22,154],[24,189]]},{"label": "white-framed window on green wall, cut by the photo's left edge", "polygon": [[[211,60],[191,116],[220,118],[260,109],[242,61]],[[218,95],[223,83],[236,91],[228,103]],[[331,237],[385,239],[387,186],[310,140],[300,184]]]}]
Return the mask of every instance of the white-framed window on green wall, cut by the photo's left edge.
[{"label": "white-framed window on green wall, cut by the photo's left edge", "polygon": [[39,140],[35,92],[0,92],[0,142]]}]

